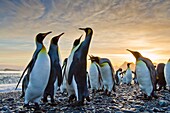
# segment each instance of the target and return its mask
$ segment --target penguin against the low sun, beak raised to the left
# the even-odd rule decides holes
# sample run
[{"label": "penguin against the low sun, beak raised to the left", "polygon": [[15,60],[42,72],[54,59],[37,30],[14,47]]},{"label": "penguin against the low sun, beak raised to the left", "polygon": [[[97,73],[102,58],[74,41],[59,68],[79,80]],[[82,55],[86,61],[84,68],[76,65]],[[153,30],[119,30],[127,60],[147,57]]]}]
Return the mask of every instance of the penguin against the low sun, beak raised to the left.
[{"label": "penguin against the low sun, beak raised to the left", "polygon": [[154,91],[156,91],[156,71],[152,61],[148,58],[143,57],[137,51],[131,51],[136,58],[136,76],[139,83],[140,89],[144,92],[144,96],[151,96],[157,98]]}]

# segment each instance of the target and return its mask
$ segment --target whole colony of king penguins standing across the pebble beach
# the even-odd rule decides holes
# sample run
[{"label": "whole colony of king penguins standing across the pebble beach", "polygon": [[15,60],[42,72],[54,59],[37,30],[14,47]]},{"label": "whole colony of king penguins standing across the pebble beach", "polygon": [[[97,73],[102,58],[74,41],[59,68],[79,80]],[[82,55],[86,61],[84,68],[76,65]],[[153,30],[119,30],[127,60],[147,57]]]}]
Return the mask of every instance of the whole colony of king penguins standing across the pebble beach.
[{"label": "whole colony of king penguins standing across the pebble beach", "polygon": [[125,71],[119,68],[115,73],[108,58],[93,55],[89,55],[91,65],[88,70],[87,55],[93,30],[88,27],[79,29],[86,33],[85,39],[81,42],[81,35],[74,41],[70,55],[65,58],[63,65],[60,61],[58,41],[64,33],[51,39],[48,52],[43,40],[52,32],[37,34],[36,50],[16,86],[17,89],[22,80],[21,98],[24,97],[24,107],[29,108],[30,103],[34,103],[35,110],[39,110],[41,100],[44,103],[50,100],[52,105],[56,105],[54,96],[57,90],[68,95],[69,102],[72,102],[70,105],[82,106],[85,100],[90,101],[89,90],[92,90],[93,95],[102,91],[110,96],[112,91],[116,91],[115,85],[131,85],[132,80],[139,85],[147,99],[158,98],[156,91],[162,87],[166,90],[168,86],[170,91],[170,59],[166,64],[158,64],[155,69],[150,59],[138,51],[127,49],[136,58],[135,72],[130,68],[131,63],[127,63]]}]

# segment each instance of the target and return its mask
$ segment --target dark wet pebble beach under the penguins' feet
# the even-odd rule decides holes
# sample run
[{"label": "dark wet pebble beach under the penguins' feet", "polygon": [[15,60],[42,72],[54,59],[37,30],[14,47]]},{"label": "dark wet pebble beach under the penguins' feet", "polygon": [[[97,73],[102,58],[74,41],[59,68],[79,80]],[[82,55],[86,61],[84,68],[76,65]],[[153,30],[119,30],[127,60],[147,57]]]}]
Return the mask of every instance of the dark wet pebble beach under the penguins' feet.
[{"label": "dark wet pebble beach under the penguins' feet", "polygon": [[[170,112],[170,93],[167,90],[157,91],[158,99],[150,101],[143,99],[138,85],[116,86],[116,92],[111,96],[98,92],[94,97],[90,91],[91,101],[85,101],[81,107],[71,107],[68,97],[57,92],[55,100],[57,105],[41,103],[41,112]],[[0,93],[0,112],[34,112],[34,109],[23,108],[23,99],[19,99],[21,92],[14,91]]]}]

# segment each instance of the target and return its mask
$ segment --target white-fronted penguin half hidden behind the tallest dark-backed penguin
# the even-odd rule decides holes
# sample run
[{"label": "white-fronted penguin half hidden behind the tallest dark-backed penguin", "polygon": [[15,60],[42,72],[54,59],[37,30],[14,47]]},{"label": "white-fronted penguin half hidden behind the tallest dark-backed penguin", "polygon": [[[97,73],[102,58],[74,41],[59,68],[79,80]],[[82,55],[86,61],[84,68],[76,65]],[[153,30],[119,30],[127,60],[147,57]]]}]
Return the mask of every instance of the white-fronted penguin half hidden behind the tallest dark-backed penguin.
[{"label": "white-fronted penguin half hidden behind the tallest dark-backed penguin", "polygon": [[73,56],[75,51],[78,49],[78,47],[80,46],[80,40],[81,40],[82,35],[80,36],[80,38],[76,39],[73,43],[73,47],[71,49],[71,53],[69,55],[69,57],[67,58],[67,64],[66,64],[66,69],[65,69],[65,79],[66,79],[66,90],[69,96],[69,102],[71,102],[72,100],[76,99],[76,92],[74,90],[74,88],[76,87],[76,82],[73,79],[73,82],[71,84],[68,83],[68,73],[70,70],[70,65],[73,61]]}]

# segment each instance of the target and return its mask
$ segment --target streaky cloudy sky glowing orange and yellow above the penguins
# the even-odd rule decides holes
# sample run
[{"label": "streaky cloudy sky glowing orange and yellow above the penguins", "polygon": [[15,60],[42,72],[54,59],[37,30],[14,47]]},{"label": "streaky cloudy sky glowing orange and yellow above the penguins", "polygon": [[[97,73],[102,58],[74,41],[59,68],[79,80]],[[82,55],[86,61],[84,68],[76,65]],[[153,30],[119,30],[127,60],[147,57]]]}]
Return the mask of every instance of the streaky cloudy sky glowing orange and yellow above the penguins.
[{"label": "streaky cloudy sky glowing orange and yellow above the penguins", "polygon": [[1,0],[0,66],[25,67],[36,34],[47,31],[53,31],[44,40],[47,50],[50,39],[65,32],[59,40],[64,60],[84,34],[79,27],[94,30],[89,54],[113,65],[135,62],[127,48],[156,63],[170,58],[170,0]]}]

